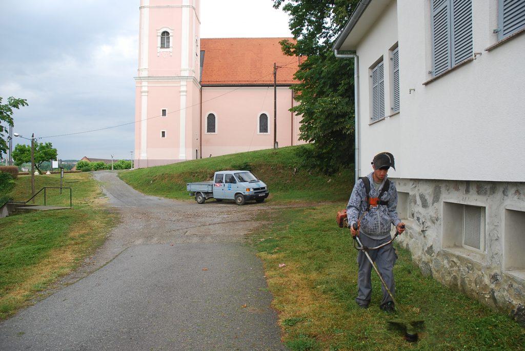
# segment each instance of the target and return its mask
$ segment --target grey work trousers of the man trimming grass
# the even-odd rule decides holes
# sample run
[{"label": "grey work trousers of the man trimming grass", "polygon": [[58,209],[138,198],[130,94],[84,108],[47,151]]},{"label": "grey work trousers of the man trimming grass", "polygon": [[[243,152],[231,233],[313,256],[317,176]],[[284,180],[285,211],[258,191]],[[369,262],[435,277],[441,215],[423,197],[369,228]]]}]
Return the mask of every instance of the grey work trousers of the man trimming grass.
[{"label": "grey work trousers of the man trimming grass", "polygon": [[[389,241],[390,237],[375,240],[366,235],[360,235],[359,240],[361,240],[361,243],[365,247],[376,247]],[[395,294],[394,264],[396,261],[396,254],[394,247],[392,244],[388,244],[377,250],[369,250],[368,253],[370,258],[376,263],[377,270],[381,273],[388,289],[390,289],[392,294]],[[372,281],[370,276],[373,269],[372,263],[370,263],[363,250],[359,250],[357,262],[359,264],[358,297],[356,297],[355,302],[359,305],[368,305],[372,297]],[[381,284],[381,289],[383,289],[383,300],[381,300],[381,305],[388,301],[392,301],[392,297],[388,295],[383,284]]]}]

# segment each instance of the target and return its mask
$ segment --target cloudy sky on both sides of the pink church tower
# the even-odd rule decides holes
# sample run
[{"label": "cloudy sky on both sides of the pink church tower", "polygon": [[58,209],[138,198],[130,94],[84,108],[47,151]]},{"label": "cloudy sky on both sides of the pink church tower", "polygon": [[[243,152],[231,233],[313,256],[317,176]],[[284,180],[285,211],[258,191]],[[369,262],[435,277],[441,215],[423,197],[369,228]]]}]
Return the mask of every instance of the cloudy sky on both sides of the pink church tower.
[{"label": "cloudy sky on both sides of the pink church tower", "polygon": [[[53,143],[61,159],[131,157],[139,4],[0,0],[0,97],[29,104],[15,110],[14,132]],[[201,37],[291,36],[272,4],[201,0]]]}]

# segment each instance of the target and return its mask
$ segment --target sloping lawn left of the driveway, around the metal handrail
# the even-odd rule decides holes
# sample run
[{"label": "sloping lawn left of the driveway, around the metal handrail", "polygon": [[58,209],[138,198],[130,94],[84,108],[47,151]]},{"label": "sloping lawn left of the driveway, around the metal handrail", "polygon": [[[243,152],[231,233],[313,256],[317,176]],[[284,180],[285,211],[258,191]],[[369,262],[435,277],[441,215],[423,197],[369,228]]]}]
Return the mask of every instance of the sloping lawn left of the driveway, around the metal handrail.
[{"label": "sloping lawn left of the driveway, around the metal handrail", "polygon": [[[35,191],[60,186],[60,175],[35,177]],[[102,196],[89,173],[68,173],[73,208],[0,219],[0,320],[13,315],[103,243],[117,217],[98,206]],[[31,197],[31,177],[18,176],[8,194],[16,201]],[[69,191],[48,189],[46,204],[69,206]],[[31,202],[29,203],[31,204]],[[44,205],[44,193],[35,198]]]}]

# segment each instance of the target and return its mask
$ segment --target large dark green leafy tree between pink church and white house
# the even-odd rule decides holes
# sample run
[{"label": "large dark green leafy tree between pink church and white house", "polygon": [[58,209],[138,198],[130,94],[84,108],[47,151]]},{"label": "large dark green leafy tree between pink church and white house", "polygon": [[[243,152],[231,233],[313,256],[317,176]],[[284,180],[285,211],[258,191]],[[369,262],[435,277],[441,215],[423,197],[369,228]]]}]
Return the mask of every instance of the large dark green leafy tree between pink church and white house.
[{"label": "large dark green leafy tree between pink church and white house", "polygon": [[325,173],[354,162],[354,70],[353,60],[335,58],[332,46],[359,0],[272,0],[275,8],[290,15],[296,41],[281,42],[289,56],[306,57],[295,77],[300,83],[300,138],[313,142],[304,154],[309,165]]}]

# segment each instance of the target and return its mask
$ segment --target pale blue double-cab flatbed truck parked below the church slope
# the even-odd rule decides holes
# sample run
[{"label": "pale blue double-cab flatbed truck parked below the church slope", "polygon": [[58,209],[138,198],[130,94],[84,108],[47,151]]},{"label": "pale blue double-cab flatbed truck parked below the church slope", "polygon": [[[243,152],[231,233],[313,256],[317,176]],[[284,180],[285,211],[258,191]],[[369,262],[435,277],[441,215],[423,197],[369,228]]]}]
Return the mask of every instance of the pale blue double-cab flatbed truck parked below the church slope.
[{"label": "pale blue double-cab flatbed truck parked below the church slope", "polygon": [[195,196],[198,204],[204,204],[211,198],[217,201],[235,200],[237,205],[244,205],[250,200],[262,203],[270,195],[266,184],[250,171],[215,172],[213,180],[186,183],[186,190],[190,196]]}]

